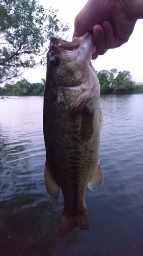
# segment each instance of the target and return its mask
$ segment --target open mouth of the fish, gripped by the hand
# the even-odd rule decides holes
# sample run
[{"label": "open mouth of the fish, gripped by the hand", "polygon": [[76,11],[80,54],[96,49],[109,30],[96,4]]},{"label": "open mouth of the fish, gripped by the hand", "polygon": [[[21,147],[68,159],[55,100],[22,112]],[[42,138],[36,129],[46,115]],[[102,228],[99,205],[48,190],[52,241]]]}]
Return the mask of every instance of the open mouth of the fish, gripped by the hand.
[{"label": "open mouth of the fish, gripped by the hand", "polygon": [[59,50],[74,51],[81,47],[90,36],[92,36],[92,34],[90,32],[87,32],[81,37],[74,37],[71,42],[55,36],[51,36],[50,46],[55,46]]}]

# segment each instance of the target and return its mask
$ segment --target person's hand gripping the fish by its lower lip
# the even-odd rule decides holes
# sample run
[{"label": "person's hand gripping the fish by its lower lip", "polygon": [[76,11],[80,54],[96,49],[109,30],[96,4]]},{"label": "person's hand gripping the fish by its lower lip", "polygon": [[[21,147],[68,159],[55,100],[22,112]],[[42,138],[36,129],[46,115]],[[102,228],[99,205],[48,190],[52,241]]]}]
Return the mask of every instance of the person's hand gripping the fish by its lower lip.
[{"label": "person's hand gripping the fish by its lower lip", "polygon": [[[138,1],[143,10],[143,1]],[[73,37],[93,32],[96,46],[93,59],[128,41],[137,20],[136,6],[131,5],[132,2],[137,1],[89,0],[77,14]]]}]

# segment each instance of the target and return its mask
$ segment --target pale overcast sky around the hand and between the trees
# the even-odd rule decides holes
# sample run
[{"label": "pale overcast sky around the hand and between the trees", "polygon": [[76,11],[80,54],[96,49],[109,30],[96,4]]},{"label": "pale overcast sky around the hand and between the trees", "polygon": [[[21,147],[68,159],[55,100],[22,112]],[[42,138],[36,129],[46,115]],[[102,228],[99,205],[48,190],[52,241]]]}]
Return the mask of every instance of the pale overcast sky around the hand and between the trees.
[{"label": "pale overcast sky around the hand and between the trees", "polygon": [[[74,31],[74,18],[76,14],[87,3],[87,0],[40,0],[45,8],[55,8],[59,10],[58,18],[61,22],[69,23],[69,40],[72,40]],[[108,50],[106,54],[99,56],[92,61],[97,71],[110,70],[117,68],[118,71],[128,70],[132,79],[136,82],[143,82],[143,19],[137,21],[135,29],[129,38],[129,41],[117,49]],[[31,69],[24,74],[24,77],[30,82],[38,82],[45,78],[45,68]]]}]

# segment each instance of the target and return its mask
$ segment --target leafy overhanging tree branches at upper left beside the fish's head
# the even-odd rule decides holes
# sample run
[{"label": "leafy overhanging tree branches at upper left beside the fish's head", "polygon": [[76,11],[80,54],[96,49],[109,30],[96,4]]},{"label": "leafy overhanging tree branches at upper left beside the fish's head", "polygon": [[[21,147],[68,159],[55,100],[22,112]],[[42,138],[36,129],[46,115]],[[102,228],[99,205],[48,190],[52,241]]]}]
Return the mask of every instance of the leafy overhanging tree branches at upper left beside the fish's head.
[{"label": "leafy overhanging tree branches at upper left beside the fish's head", "polygon": [[44,65],[50,36],[62,36],[68,30],[57,12],[45,10],[38,0],[0,2],[0,84]]}]

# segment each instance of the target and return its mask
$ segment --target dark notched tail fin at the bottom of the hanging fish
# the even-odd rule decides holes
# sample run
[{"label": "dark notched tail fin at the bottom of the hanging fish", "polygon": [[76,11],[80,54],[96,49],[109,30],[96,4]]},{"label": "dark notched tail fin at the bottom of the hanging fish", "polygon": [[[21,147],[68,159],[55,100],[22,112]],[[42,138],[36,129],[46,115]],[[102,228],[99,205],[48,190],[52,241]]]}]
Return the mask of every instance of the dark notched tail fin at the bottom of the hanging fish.
[{"label": "dark notched tail fin at the bottom of the hanging fish", "polygon": [[80,228],[82,230],[89,230],[90,222],[87,208],[74,214],[68,215],[65,213],[65,211],[63,211],[60,226],[60,236],[64,237],[74,227]]}]

